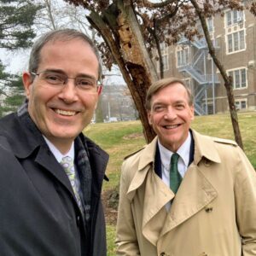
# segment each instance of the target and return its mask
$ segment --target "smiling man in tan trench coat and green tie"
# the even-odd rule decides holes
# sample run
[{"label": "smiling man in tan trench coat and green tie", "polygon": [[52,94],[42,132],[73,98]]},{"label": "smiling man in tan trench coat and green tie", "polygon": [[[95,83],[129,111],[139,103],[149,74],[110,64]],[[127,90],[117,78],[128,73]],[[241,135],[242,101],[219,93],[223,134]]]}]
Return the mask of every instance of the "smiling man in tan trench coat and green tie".
[{"label": "smiling man in tan trench coat and green tie", "polygon": [[117,255],[256,255],[256,175],[235,142],[190,129],[183,80],[147,93],[157,137],[122,166]]}]

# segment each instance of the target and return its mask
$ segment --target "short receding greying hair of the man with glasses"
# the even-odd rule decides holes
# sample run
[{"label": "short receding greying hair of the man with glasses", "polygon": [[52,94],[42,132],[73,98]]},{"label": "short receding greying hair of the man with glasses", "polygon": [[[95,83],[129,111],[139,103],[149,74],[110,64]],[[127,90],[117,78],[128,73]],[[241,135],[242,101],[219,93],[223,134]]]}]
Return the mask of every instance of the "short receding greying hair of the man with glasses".
[{"label": "short receding greying hair of the man with glasses", "polygon": [[79,32],[75,29],[70,29],[70,28],[47,32],[44,35],[42,35],[40,38],[38,38],[38,40],[32,46],[32,50],[29,58],[28,70],[33,73],[38,72],[38,66],[41,61],[40,52],[45,44],[47,44],[50,41],[57,41],[57,40],[68,41],[75,38],[82,39],[85,43],[88,43],[91,49],[93,50],[93,52],[95,53],[96,58],[99,62],[98,79],[101,80],[102,79],[102,59],[98,49],[96,48],[96,45],[84,33]]}]

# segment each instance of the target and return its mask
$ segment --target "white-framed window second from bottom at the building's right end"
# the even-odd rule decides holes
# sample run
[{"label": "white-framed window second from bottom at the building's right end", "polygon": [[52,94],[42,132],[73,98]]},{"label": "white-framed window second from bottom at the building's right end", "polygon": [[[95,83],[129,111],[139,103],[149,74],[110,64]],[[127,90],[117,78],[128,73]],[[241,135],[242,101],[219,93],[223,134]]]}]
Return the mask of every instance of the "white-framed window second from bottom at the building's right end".
[{"label": "white-framed window second from bottom at the building's right end", "polygon": [[[239,67],[234,69],[229,69],[227,71],[229,76],[233,77],[233,90],[243,90],[247,89],[247,67]],[[245,75],[245,77],[244,77]],[[242,86],[245,84],[244,86]]]}]

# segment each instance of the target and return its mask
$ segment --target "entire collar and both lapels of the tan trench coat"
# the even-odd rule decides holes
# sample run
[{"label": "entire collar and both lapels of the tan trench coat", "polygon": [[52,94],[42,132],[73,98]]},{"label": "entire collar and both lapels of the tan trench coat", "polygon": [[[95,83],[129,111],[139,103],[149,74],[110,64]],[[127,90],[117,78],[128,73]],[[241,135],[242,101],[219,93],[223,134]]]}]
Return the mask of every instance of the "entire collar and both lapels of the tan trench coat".
[{"label": "entire collar and both lapels of the tan trench coat", "polygon": [[[132,200],[136,190],[145,185],[142,212],[143,236],[155,246],[161,236],[183,224],[218,196],[217,190],[207,180],[201,168],[206,166],[201,165],[201,161],[208,166],[212,162],[220,163],[218,151],[211,137],[202,136],[193,130],[192,135],[195,140],[194,161],[189,166],[176,195],[154,172],[158,137],[155,137],[140,153],[137,172],[132,178],[127,196]],[[172,207],[170,212],[166,212],[165,206],[169,201],[172,201]]]}]

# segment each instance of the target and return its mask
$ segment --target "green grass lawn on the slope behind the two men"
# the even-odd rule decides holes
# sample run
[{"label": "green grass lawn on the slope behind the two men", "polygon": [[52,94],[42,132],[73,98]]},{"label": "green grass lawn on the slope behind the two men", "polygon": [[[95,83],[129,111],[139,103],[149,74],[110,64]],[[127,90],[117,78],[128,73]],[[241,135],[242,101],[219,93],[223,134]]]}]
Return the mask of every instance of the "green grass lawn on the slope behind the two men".
[{"label": "green grass lawn on the slope behind the two men", "polygon": [[[256,169],[256,112],[238,113],[241,137],[248,159]],[[203,134],[234,139],[229,114],[196,116],[192,128]],[[140,121],[90,125],[84,130],[110,155],[107,175],[110,179],[103,189],[113,189],[119,184],[120,166],[124,157],[142,148],[145,144],[143,127]],[[107,225],[108,255],[114,253],[115,226]]]}]

